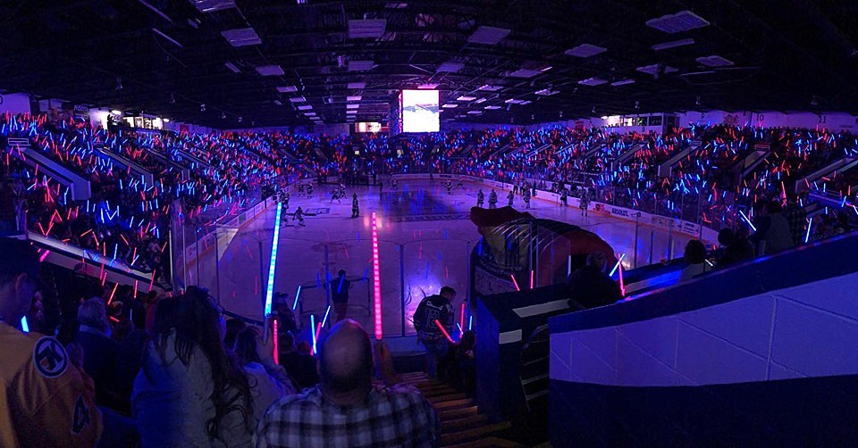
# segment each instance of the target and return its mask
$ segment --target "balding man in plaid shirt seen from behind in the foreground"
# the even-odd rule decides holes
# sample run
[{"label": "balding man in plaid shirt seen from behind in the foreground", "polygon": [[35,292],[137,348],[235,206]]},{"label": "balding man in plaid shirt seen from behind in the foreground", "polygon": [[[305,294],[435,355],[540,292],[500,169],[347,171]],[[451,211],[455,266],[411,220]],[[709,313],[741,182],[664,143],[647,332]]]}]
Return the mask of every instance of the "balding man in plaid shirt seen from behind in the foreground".
[{"label": "balding man in plaid shirt seen from behind in the foreground", "polygon": [[259,426],[260,447],[437,446],[441,423],[412,386],[398,385],[388,348],[375,355],[387,386],[373,386],[373,349],[346,319],[319,345],[321,383],[274,402]]}]

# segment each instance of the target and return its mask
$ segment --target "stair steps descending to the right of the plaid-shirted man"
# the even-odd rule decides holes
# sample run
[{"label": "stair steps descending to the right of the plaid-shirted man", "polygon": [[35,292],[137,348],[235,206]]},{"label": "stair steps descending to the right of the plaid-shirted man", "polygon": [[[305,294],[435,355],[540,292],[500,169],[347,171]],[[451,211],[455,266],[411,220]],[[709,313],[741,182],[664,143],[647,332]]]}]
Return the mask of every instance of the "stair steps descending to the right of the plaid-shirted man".
[{"label": "stair steps descending to the right of the plaid-shirted man", "polygon": [[454,387],[429,379],[423,372],[400,375],[403,382],[415,386],[432,402],[441,419],[441,446],[446,447],[522,447],[501,436],[511,425],[509,421],[491,423],[479,413],[476,403]]}]

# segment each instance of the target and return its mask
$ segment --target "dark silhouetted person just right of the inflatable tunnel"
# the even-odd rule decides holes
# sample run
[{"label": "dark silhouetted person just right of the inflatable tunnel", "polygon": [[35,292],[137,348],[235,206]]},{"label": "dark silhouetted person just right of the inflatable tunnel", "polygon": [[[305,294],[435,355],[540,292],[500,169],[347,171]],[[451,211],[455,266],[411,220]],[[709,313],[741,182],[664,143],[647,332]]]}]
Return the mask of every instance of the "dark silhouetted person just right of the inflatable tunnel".
[{"label": "dark silhouetted person just right of the inflatable tunnel", "polygon": [[604,253],[593,252],[587,255],[585,267],[572,272],[568,288],[573,309],[610,305],[623,298],[617,282],[605,273],[607,264]]}]

